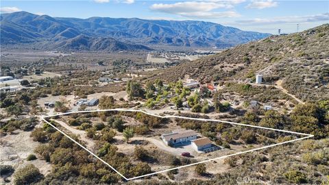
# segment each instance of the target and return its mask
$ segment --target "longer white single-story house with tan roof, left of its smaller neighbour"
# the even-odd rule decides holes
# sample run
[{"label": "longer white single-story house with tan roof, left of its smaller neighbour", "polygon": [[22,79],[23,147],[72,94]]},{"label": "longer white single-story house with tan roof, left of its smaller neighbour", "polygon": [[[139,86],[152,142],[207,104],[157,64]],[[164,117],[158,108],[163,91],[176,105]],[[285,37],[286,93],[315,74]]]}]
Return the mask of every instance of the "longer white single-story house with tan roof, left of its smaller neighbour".
[{"label": "longer white single-story house with tan roof, left of its smaller neighbour", "polygon": [[174,130],[169,134],[162,134],[161,139],[166,145],[178,145],[197,138],[194,130]]}]

